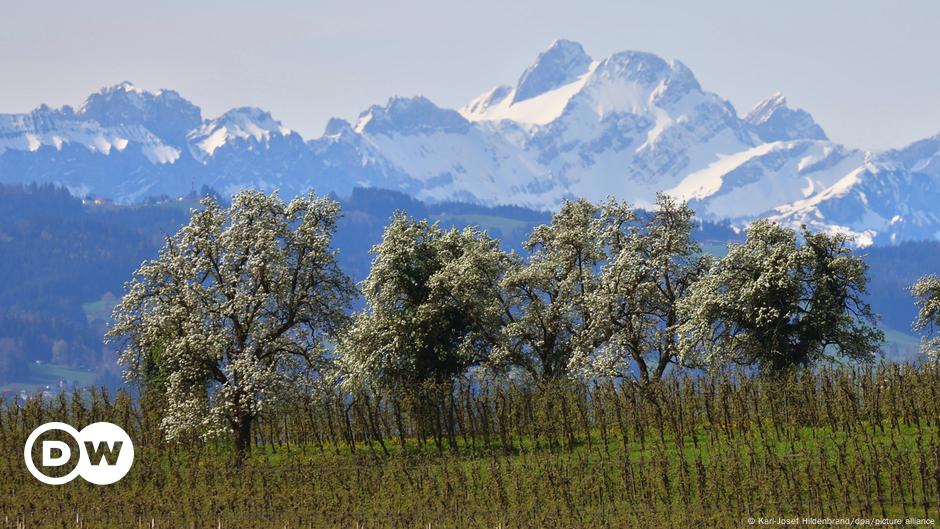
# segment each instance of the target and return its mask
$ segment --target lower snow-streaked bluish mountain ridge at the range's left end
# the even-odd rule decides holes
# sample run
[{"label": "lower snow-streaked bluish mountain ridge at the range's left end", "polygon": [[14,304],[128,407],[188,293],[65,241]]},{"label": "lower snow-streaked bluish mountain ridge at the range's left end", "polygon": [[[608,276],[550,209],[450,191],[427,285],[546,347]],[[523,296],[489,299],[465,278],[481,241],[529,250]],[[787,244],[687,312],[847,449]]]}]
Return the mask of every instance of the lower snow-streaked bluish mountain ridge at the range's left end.
[{"label": "lower snow-streaked bluish mountain ridge at the range's left end", "polygon": [[304,139],[256,108],[203,120],[172,90],[129,82],[89,96],[78,111],[41,106],[0,115],[0,181],[54,182],[119,202],[182,195],[202,185],[223,193],[340,189],[321,175]]}]

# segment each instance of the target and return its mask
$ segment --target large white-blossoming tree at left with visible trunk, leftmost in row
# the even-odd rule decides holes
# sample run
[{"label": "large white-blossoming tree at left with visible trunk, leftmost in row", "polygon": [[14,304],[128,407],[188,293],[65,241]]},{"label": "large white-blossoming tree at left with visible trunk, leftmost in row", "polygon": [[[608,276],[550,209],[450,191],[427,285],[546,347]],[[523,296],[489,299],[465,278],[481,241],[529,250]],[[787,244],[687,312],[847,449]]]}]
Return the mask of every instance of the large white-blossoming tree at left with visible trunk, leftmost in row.
[{"label": "large white-blossoming tree at left with visible trunk, leftmost in row", "polygon": [[108,336],[129,379],[161,372],[167,437],[233,432],[243,454],[254,418],[316,380],[354,289],[331,248],[336,202],[202,205],[134,274]]}]

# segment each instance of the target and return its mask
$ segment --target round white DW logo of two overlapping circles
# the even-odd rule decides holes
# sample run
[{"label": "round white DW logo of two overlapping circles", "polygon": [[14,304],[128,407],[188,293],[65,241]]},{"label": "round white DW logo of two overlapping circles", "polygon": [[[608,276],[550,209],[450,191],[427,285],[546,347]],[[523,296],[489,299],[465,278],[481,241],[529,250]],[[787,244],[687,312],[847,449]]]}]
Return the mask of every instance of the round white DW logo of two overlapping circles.
[{"label": "round white DW logo of two overlapping circles", "polygon": [[[39,436],[52,431],[63,431],[78,445],[78,463],[64,476],[49,476],[36,467],[33,461],[33,445]],[[72,449],[64,441],[45,440],[42,442],[43,467],[61,467],[72,459]],[[23,459],[29,473],[48,485],[62,485],[81,476],[89,483],[110,485],[123,478],[134,463],[134,443],[120,426],[109,422],[89,424],[78,431],[62,422],[49,422],[33,430],[26,439]]]}]

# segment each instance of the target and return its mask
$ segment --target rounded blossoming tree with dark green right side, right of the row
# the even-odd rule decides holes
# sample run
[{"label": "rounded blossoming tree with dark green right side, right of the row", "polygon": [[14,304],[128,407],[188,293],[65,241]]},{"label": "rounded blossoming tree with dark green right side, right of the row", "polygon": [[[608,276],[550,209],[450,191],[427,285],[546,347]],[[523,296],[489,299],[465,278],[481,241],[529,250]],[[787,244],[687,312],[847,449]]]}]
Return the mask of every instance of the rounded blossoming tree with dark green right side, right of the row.
[{"label": "rounded blossoming tree with dark green right side, right of the row", "polygon": [[771,370],[835,355],[870,360],[884,334],[864,301],[866,273],[843,235],[804,228],[798,237],[758,220],[680,302],[683,357]]}]

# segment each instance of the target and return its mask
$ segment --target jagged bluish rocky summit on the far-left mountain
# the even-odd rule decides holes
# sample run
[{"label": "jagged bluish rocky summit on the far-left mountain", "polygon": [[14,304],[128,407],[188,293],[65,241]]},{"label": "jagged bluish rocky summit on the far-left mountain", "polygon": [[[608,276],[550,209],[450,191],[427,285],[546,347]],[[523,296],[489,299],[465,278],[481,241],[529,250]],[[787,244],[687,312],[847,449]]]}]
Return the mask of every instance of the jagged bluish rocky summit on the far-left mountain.
[{"label": "jagged bluish rocky summit on the far-left mountain", "polygon": [[128,81],[90,95],[78,115],[106,127],[141,125],[176,146],[183,145],[186,134],[202,121],[199,107],[179,93],[148,92]]}]

